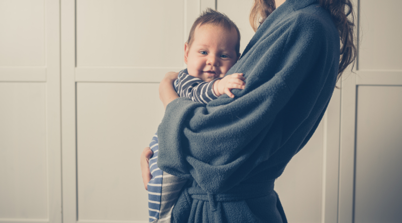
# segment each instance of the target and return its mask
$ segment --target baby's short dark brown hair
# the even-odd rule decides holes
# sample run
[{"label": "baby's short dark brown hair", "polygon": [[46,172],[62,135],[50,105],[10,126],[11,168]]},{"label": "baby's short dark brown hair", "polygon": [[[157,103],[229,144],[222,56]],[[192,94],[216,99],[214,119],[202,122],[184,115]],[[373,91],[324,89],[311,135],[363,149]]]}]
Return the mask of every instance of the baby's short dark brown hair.
[{"label": "baby's short dark brown hair", "polygon": [[227,31],[231,31],[232,27],[236,29],[237,32],[237,44],[235,47],[236,53],[239,56],[240,55],[240,31],[239,28],[237,28],[236,24],[229,19],[228,16],[226,16],[223,13],[220,13],[218,11],[215,11],[211,8],[207,8],[201,15],[198,16],[198,18],[194,21],[192,24],[190,34],[188,35],[188,47],[191,46],[192,41],[194,40],[193,35],[195,28],[197,26],[202,26],[204,24],[210,24],[213,26],[220,26],[224,28]]}]

